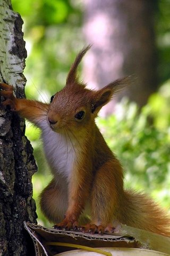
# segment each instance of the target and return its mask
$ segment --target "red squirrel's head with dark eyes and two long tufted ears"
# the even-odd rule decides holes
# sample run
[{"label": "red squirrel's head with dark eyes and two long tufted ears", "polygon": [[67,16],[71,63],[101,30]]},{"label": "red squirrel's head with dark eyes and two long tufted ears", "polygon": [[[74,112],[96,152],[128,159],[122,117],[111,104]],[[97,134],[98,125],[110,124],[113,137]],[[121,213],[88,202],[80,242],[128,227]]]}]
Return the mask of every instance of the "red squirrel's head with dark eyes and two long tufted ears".
[{"label": "red squirrel's head with dark eyes and two long tufted ears", "polygon": [[77,55],[65,87],[51,97],[47,121],[56,132],[78,133],[87,130],[87,126],[92,125],[101,107],[106,105],[127,82],[127,78],[124,77],[98,91],[87,89],[86,84],[78,80],[77,68],[89,49],[90,46],[87,46]]}]

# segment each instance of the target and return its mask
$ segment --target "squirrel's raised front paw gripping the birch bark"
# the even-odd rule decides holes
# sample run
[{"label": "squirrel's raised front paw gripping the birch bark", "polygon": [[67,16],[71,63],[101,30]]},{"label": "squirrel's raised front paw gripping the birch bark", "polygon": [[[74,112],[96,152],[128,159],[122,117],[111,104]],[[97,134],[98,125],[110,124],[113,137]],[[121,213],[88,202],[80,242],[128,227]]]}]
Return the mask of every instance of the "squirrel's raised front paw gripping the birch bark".
[{"label": "squirrel's raised front paw gripping the birch bark", "polygon": [[0,95],[5,98],[2,102],[3,106],[8,106],[12,111],[16,110],[16,98],[13,95],[13,86],[5,83],[0,83]]}]

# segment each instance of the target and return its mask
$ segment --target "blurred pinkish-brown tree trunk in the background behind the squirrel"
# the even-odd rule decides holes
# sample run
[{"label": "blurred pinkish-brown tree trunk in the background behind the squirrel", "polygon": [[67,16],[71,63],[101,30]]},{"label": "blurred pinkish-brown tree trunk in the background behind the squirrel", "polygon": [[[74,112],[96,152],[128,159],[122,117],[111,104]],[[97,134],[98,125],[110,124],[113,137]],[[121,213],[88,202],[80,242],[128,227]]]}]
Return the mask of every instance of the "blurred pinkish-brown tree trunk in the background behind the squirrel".
[{"label": "blurred pinkish-brown tree trunk in the background behind the squirrel", "polygon": [[[84,73],[91,87],[103,87],[127,75],[137,77],[116,100],[127,95],[141,107],[157,90],[154,35],[155,2],[147,0],[88,0],[84,33],[92,49],[85,57]],[[114,105],[105,111],[112,112]]]}]

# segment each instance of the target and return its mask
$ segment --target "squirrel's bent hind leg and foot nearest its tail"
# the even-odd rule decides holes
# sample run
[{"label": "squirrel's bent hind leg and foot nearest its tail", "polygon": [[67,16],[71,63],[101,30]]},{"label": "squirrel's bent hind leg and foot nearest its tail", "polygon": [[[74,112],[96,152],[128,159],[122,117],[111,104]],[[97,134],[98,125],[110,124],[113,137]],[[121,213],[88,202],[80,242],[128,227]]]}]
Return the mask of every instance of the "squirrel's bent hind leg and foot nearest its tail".
[{"label": "squirrel's bent hind leg and foot nearest its tail", "polygon": [[116,158],[100,167],[91,191],[91,222],[79,227],[79,230],[102,235],[104,232],[113,233],[117,229],[117,215],[123,194],[122,178],[122,167]]}]

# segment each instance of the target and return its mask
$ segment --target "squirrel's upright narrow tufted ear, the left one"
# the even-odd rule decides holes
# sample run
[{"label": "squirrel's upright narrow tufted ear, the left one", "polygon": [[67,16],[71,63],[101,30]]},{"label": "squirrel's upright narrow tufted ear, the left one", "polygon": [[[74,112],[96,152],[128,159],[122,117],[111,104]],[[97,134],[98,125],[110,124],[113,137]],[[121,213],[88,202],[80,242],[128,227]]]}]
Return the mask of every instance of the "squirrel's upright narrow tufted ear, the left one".
[{"label": "squirrel's upright narrow tufted ear, the left one", "polygon": [[75,58],[74,63],[72,64],[69,74],[67,75],[67,79],[66,79],[66,85],[71,85],[74,84],[75,82],[78,82],[78,78],[77,78],[77,68],[79,66],[80,61],[82,60],[82,58],[84,57],[84,55],[86,54],[86,52],[90,49],[91,45],[88,45],[87,47],[84,47],[79,54],[77,55],[77,57]]}]

